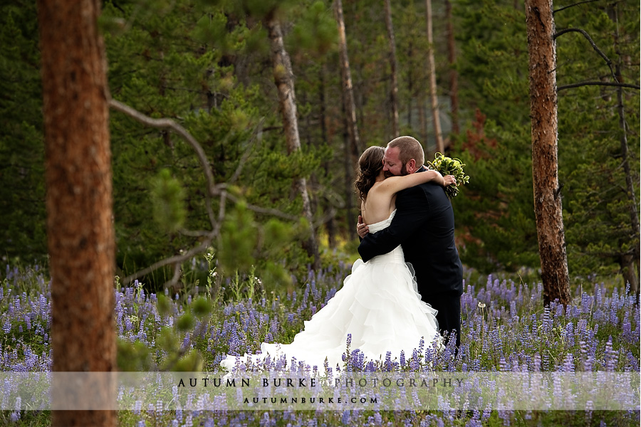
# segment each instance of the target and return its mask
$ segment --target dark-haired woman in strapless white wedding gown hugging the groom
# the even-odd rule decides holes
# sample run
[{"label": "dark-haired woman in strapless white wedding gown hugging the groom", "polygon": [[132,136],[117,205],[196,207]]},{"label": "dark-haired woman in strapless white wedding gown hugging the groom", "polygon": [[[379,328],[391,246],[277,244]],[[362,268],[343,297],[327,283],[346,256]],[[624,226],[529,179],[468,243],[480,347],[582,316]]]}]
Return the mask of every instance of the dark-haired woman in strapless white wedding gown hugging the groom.
[{"label": "dark-haired woman in strapless white wedding gown hugging the groom", "polygon": [[[358,160],[355,182],[361,200],[361,212],[370,233],[386,228],[396,213],[396,193],[427,181],[443,186],[454,184],[454,176],[442,176],[428,170],[406,176],[385,178],[383,162],[385,149],[370,147]],[[419,342],[429,344],[439,340],[437,311],[422,302],[417,292],[411,265],[405,263],[400,246],[385,255],[363,263],[355,261],[343,288],[338,290],[327,305],[304,322],[303,331],[296,334],[291,344],[262,343],[260,354],[242,357],[227,355],[220,366],[231,371],[239,363],[259,363],[286,358],[304,362],[323,370],[343,368],[343,353],[350,335],[350,349],[360,349],[367,361],[384,360],[387,352],[392,358],[401,351],[411,355]]]}]

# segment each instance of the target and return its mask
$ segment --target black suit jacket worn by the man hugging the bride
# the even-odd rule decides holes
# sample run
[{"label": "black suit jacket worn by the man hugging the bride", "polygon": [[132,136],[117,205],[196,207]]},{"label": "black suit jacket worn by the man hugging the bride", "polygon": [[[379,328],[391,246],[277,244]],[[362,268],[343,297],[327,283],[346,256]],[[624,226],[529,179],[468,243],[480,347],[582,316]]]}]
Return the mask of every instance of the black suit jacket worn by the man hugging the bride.
[{"label": "black suit jacket worn by the man hugging the bride", "polygon": [[399,191],[396,209],[390,226],[369,233],[358,246],[363,261],[401,245],[425,302],[431,303],[432,297],[444,292],[462,295],[463,267],[454,244],[454,211],[443,187],[427,182]]}]

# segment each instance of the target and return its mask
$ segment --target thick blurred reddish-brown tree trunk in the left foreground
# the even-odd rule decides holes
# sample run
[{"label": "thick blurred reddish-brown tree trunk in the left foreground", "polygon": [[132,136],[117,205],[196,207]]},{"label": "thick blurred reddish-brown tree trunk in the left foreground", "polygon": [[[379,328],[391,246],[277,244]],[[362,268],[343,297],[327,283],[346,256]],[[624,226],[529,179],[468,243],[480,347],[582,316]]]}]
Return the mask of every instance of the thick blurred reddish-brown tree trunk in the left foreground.
[{"label": "thick blurred reddish-brown tree trunk in the left foreground", "polygon": [[[99,14],[98,0],[38,0],[53,371],[116,368],[109,95]],[[115,384],[96,385],[100,407],[113,408]],[[90,384],[79,384],[78,396],[97,395],[83,386]],[[53,411],[52,418],[56,426],[117,421],[115,411]]]}]

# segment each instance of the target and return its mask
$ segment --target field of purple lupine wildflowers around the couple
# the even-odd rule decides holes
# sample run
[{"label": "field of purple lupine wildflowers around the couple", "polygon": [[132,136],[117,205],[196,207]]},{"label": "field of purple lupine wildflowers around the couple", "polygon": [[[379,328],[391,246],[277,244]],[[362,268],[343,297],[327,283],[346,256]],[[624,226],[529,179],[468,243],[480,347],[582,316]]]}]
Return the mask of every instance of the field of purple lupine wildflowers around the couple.
[{"label": "field of purple lupine wildflowers around the couple", "polygon": [[[115,289],[120,369],[217,371],[225,354],[253,353],[261,342],[291,342],[303,321],[340,289],[346,267],[310,272],[289,295],[266,292],[259,278],[229,278],[212,295],[208,283],[176,295],[140,283]],[[490,275],[468,280],[462,295],[462,348],[381,363],[346,352],[348,371],[638,372],[640,311],[635,296],[584,283],[568,307],[543,307],[540,283]],[[2,371],[51,369],[50,281],[37,267],[7,267],[0,286]],[[418,347],[418,346],[417,346]],[[274,361],[273,364],[278,364]],[[278,368],[278,366],[273,366]],[[4,384],[5,387],[8,384]],[[638,395],[637,395],[638,396]],[[197,411],[160,404],[120,411],[121,426],[638,426],[639,411]],[[1,425],[47,426],[49,411],[2,411]]]}]

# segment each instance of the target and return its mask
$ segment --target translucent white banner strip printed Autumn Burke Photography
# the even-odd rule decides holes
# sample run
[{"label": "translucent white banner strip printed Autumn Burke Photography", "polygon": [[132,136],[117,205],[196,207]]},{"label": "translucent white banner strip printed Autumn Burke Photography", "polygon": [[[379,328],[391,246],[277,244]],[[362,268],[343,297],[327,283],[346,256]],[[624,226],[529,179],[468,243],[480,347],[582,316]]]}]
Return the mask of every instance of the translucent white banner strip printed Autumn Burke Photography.
[{"label": "translucent white banner strip printed Autumn Burke Photography", "polygon": [[639,411],[639,372],[2,372],[3,410]]}]

